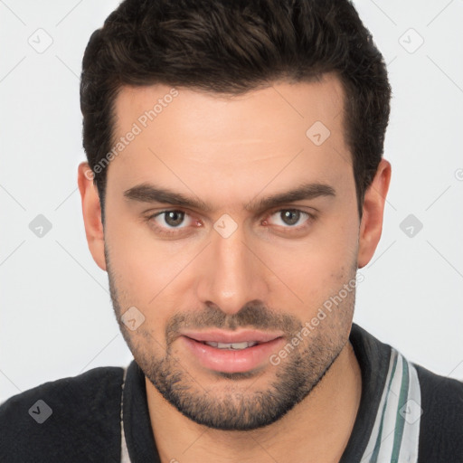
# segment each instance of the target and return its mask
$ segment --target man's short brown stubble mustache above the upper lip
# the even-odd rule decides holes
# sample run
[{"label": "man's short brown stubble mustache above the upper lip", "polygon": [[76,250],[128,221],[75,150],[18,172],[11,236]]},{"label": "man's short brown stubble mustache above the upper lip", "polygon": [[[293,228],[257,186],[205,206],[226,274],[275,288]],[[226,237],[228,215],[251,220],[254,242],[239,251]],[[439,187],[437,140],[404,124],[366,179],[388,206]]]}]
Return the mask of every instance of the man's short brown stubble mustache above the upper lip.
[{"label": "man's short brown stubble mustache above the upper lip", "polygon": [[200,312],[175,314],[165,326],[167,344],[174,341],[182,328],[219,328],[236,331],[242,327],[259,330],[283,331],[288,335],[300,331],[302,323],[297,317],[266,307],[260,301],[251,301],[235,314],[226,314],[220,307],[207,303]]}]

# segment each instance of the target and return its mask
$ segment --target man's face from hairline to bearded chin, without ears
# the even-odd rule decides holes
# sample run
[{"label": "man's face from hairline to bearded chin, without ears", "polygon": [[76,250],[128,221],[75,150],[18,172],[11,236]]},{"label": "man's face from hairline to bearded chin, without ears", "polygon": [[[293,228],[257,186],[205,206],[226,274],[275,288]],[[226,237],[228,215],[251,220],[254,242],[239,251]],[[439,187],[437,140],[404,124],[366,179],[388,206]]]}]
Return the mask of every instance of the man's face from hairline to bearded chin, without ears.
[{"label": "man's face from hairline to bearded chin, without ears", "polygon": [[[350,332],[359,217],[344,93],[333,76],[229,99],[171,90],[117,99],[116,138],[136,135],[107,173],[111,296],[151,393],[198,423],[255,429],[307,396]],[[134,330],[129,307],[132,327],[145,317]]]}]

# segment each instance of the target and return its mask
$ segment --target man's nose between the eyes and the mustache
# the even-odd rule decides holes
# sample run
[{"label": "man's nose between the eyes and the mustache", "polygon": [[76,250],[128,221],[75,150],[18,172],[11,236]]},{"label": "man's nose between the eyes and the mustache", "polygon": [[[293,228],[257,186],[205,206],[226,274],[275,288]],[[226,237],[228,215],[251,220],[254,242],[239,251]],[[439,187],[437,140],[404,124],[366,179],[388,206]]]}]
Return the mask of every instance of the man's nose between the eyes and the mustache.
[{"label": "man's nose between the eyes and the mustache", "polygon": [[213,231],[212,242],[202,254],[197,296],[225,314],[236,314],[251,301],[268,297],[266,267],[252,241],[240,227],[224,238]]}]

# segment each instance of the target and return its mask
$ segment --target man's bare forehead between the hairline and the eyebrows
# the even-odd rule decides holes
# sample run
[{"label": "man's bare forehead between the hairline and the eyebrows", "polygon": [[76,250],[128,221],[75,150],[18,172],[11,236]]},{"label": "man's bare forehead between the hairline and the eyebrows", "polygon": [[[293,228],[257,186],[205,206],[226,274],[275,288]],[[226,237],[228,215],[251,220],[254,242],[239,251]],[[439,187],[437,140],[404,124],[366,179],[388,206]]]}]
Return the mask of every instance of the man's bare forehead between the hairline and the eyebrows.
[{"label": "man's bare forehead between the hairline and the eyebrows", "polygon": [[277,188],[288,178],[335,180],[352,171],[344,99],[333,74],[275,82],[240,96],[166,85],[123,88],[115,104],[114,146],[120,149],[113,150],[108,181],[128,188],[156,175],[156,184],[174,182],[184,192],[205,184],[220,192],[231,180],[258,189],[278,172]]}]

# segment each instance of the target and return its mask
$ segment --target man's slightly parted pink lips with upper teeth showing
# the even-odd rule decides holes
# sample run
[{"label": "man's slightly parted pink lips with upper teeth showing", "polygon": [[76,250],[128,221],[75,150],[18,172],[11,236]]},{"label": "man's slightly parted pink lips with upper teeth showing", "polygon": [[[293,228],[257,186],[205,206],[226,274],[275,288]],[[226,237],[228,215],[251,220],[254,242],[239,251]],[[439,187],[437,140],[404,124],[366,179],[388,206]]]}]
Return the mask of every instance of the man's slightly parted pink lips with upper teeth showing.
[{"label": "man's slightly parted pink lips with upper teeth showing", "polygon": [[184,332],[180,339],[203,368],[222,373],[245,373],[269,364],[269,356],[283,343],[281,333],[255,330]]}]

